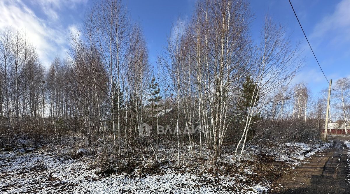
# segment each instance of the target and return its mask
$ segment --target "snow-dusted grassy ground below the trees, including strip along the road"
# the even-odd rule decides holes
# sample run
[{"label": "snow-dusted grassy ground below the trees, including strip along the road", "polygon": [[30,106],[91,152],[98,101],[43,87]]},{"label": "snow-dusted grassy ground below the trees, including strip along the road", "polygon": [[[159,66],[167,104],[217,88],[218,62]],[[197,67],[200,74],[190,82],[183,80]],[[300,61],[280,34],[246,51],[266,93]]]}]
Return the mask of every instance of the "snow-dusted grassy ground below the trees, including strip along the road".
[{"label": "snow-dusted grassy ground below the trees, including strip along the road", "polygon": [[[329,145],[289,143],[280,148],[252,147],[246,158],[264,152],[275,157],[275,161],[298,165]],[[0,151],[0,193],[268,193],[271,185],[249,166],[236,174],[209,173],[205,164],[175,168],[176,164],[170,162],[160,166],[161,171],[156,174],[139,174],[135,169],[135,173],[117,172],[102,177],[98,168],[91,167],[91,156],[72,159],[45,148],[15,151]],[[231,156],[223,160],[234,163]]]}]

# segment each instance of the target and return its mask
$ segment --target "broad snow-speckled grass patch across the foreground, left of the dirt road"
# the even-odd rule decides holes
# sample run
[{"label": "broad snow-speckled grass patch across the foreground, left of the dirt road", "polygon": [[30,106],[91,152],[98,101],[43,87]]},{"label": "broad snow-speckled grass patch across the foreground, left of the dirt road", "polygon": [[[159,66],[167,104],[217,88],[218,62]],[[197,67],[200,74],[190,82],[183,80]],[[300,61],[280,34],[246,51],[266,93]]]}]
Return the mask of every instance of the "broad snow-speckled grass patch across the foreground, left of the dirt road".
[{"label": "broad snow-speckled grass patch across the foreground, left of the dirt road", "polygon": [[[78,151],[86,152],[86,149]],[[0,153],[0,191],[4,193],[251,193],[267,191],[242,175],[198,174],[173,168],[155,175],[121,172],[102,177],[91,170],[91,160],[65,159],[40,149],[35,152]],[[249,172],[249,169],[246,170]],[[241,180],[237,181],[237,177]]]}]

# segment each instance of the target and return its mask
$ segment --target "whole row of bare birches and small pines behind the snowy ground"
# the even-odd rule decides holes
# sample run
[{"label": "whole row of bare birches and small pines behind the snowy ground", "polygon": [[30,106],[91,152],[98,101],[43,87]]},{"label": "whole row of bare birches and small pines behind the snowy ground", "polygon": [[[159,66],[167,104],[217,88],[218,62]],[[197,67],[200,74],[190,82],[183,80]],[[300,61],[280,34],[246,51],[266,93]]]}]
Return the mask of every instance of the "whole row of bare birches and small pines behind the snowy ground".
[{"label": "whole row of bare birches and small pines behind the snowy ground", "polygon": [[[290,86],[302,65],[298,45],[269,17],[252,41],[252,19],[245,1],[198,1],[189,22],[173,26],[157,71],[119,0],[92,7],[69,55],[47,69],[25,34],[2,30],[2,139],[75,136],[130,160],[144,146],[156,158],[158,145],[172,141],[179,163],[185,145],[214,163],[226,144],[241,160],[247,145],[317,140],[325,103],[311,102],[304,84]],[[142,123],[149,136],[139,136]],[[157,125],[173,135],[158,134]],[[201,132],[181,132],[189,126]]]}]

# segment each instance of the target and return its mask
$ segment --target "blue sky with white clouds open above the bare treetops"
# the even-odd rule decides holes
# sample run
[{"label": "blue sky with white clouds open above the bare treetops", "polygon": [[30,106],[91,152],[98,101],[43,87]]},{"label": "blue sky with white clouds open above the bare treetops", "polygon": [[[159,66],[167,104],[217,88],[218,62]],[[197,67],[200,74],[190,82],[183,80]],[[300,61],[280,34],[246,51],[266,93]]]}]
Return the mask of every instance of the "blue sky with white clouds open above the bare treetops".
[{"label": "blue sky with white clouds open above the bare treetops", "polygon": [[[293,42],[301,41],[304,68],[293,80],[304,81],[317,94],[327,87],[320,69],[308,48],[288,0],[250,0],[254,14],[252,39],[257,39],[266,14],[286,26]],[[311,46],[328,79],[350,76],[350,0],[292,0]],[[84,14],[92,6],[89,0],[1,0],[0,29],[10,26],[24,29],[36,46],[42,63],[48,65],[55,56],[69,49],[70,32],[79,29]],[[134,21],[141,24],[148,42],[149,59],[156,65],[172,24],[191,17],[195,0],[125,0]]]}]

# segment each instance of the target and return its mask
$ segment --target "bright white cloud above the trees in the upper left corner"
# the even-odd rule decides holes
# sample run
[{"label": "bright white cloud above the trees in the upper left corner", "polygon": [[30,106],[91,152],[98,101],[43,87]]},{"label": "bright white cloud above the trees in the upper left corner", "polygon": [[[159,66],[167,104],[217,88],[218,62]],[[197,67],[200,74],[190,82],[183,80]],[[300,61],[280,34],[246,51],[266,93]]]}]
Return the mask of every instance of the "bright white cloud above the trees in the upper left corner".
[{"label": "bright white cloud above the trees in the upper left corner", "polygon": [[[54,0],[49,1],[53,3],[53,8],[62,6]],[[45,9],[45,7],[42,7],[42,9]],[[54,9],[48,12],[55,13],[56,16],[54,17],[57,17],[57,12]],[[51,17],[48,20],[39,18],[21,0],[0,1],[0,29],[10,27],[14,30],[23,30],[29,41],[36,46],[38,55],[44,65],[48,65],[56,55],[63,57],[69,46],[67,37],[70,29],[63,28],[60,21],[52,22]]]}]

